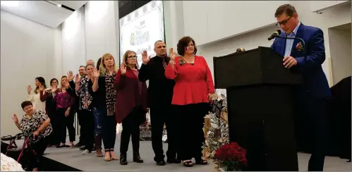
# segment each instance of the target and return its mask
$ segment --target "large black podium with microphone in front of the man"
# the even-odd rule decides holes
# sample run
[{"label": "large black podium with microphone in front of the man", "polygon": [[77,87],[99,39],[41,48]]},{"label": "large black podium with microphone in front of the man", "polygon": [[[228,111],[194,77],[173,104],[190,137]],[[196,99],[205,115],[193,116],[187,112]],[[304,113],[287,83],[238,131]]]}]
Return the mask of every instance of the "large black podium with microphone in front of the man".
[{"label": "large black podium with microphone in front of the man", "polygon": [[302,75],[268,47],[214,57],[214,84],[226,89],[229,137],[247,149],[245,171],[298,171],[294,87]]}]

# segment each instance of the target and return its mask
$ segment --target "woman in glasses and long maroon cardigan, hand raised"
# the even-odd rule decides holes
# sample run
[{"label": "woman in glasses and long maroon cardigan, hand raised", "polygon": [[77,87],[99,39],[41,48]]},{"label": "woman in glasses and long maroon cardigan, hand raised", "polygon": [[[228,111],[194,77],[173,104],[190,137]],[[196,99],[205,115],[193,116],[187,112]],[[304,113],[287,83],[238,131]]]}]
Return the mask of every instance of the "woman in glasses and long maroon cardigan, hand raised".
[{"label": "woman in glasses and long maroon cardigan, hand raised", "polygon": [[122,123],[120,164],[127,165],[127,150],[132,137],[133,161],[142,163],[140,158],[140,125],[146,120],[147,84],[138,80],[137,54],[126,51],[123,63],[117,71],[114,87],[116,95],[116,121]]}]

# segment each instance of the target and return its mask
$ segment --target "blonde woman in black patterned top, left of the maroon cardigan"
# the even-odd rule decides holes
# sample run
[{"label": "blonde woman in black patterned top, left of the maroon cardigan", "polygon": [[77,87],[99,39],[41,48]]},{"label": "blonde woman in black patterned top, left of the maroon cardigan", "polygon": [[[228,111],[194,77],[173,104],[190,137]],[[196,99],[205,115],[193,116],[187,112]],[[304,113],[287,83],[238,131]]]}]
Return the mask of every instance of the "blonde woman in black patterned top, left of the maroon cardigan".
[{"label": "blonde woman in black patterned top, left of the maroon cardigan", "polygon": [[115,102],[116,90],[114,80],[116,78],[117,67],[114,56],[104,54],[99,70],[94,68],[92,74],[92,92],[95,94],[95,107],[100,112],[102,120],[102,139],[104,144],[105,161],[117,160],[114,153],[116,140],[116,119]]}]

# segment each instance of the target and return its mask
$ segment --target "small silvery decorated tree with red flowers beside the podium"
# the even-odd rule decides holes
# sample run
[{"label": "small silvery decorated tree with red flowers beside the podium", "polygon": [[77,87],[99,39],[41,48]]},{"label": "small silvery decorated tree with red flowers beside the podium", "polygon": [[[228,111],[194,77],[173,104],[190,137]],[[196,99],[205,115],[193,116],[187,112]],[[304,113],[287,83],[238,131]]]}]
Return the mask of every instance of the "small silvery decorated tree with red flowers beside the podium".
[{"label": "small silvery decorated tree with red flowers beside the podium", "polygon": [[225,94],[214,94],[210,112],[205,116],[203,128],[205,144],[203,156],[213,159],[215,171],[241,171],[247,164],[245,149],[237,143],[229,143],[229,121]]}]

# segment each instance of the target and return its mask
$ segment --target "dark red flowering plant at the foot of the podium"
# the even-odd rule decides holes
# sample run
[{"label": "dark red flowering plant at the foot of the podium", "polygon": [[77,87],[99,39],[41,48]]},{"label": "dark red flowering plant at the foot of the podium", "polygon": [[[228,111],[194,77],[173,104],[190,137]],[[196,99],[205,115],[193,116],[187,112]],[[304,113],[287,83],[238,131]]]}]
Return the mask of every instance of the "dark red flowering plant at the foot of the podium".
[{"label": "dark red flowering plant at the foot of the podium", "polygon": [[214,154],[215,163],[224,171],[241,171],[247,166],[247,151],[236,142],[222,145]]}]

